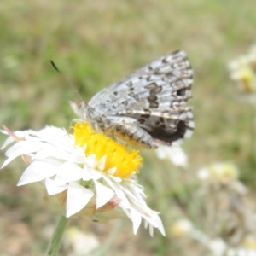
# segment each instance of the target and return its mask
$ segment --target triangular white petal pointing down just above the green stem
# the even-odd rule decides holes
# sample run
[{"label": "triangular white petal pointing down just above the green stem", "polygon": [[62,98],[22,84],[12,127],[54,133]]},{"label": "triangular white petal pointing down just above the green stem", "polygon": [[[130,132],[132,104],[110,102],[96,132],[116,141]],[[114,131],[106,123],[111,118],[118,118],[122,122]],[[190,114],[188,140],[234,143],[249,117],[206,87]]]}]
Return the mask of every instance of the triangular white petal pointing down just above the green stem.
[{"label": "triangular white petal pointing down just above the green stem", "polygon": [[69,183],[67,190],[67,213],[66,217],[70,217],[73,214],[82,210],[93,196],[93,192],[89,189],[85,189],[79,183]]}]

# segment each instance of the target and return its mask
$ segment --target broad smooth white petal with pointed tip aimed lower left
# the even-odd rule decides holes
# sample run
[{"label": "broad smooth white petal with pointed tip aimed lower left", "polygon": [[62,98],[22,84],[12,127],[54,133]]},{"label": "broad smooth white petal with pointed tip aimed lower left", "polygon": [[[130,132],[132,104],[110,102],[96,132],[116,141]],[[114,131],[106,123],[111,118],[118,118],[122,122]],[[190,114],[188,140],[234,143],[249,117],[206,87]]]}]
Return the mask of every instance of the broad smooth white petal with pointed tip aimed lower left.
[{"label": "broad smooth white petal with pointed tip aimed lower left", "polygon": [[54,176],[60,166],[61,163],[56,160],[34,161],[26,168],[25,172],[23,172],[17,186],[34,183],[43,180],[45,177]]}]

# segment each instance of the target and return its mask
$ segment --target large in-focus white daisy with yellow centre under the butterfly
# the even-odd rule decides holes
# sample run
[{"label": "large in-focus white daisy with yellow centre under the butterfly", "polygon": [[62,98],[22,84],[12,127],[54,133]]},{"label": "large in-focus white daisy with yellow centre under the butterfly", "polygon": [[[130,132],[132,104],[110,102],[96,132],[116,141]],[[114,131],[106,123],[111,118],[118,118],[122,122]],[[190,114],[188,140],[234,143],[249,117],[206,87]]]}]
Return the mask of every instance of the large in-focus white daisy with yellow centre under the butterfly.
[{"label": "large in-focus white daisy with yellow centre under the butterfly", "polygon": [[48,126],[41,131],[9,131],[3,148],[3,166],[18,156],[28,165],[18,186],[43,182],[46,199],[58,203],[67,218],[83,216],[105,223],[127,216],[134,234],[142,220],[150,235],[157,228],[165,236],[159,213],[146,202],[143,187],[135,180],[142,162],[139,151],[128,150],[109,137],[96,134],[85,122],[73,127],[73,134]]}]

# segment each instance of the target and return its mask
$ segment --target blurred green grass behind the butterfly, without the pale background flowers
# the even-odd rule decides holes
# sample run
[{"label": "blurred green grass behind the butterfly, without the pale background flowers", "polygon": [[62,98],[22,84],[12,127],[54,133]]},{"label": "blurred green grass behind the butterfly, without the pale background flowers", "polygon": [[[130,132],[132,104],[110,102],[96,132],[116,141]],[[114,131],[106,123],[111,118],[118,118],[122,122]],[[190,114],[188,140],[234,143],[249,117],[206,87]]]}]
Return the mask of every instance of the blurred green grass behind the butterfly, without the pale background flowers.
[{"label": "blurred green grass behind the butterfly, without the pale background flowers", "polygon": [[[167,236],[156,230],[150,238],[143,227],[134,236],[127,220],[106,255],[193,255],[191,248],[177,248],[168,229],[180,215],[174,194],[183,193],[184,184],[201,166],[232,160],[254,192],[253,109],[234,98],[226,65],[255,42],[255,13],[254,0],[1,1],[0,124],[13,131],[45,125],[68,128],[74,118],[68,101],[79,102],[79,97],[50,60],[89,100],[160,55],[176,49],[189,55],[195,73],[189,106],[196,125],[194,136],[183,143],[189,171],[180,172],[156,158],[150,161],[153,153],[144,153],[139,177],[148,205],[162,212]],[[3,142],[3,135],[0,139]],[[2,255],[28,255],[32,248],[44,252],[49,240],[45,229],[54,227],[58,218],[32,186],[15,187],[24,168],[15,160],[0,172]],[[114,226],[83,219],[72,224],[102,242]]]}]

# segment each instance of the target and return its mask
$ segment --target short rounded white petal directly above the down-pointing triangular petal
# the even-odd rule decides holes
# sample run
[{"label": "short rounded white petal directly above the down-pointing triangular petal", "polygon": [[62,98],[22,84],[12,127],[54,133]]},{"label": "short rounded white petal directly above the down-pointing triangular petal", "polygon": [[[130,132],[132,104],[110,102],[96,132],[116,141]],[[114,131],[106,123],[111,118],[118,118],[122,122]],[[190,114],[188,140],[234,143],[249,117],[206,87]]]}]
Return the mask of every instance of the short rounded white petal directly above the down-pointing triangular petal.
[{"label": "short rounded white petal directly above the down-pointing triangular petal", "polygon": [[83,177],[83,169],[78,165],[66,162],[57,173],[54,179],[55,186],[61,186],[71,181],[77,181]]}]

